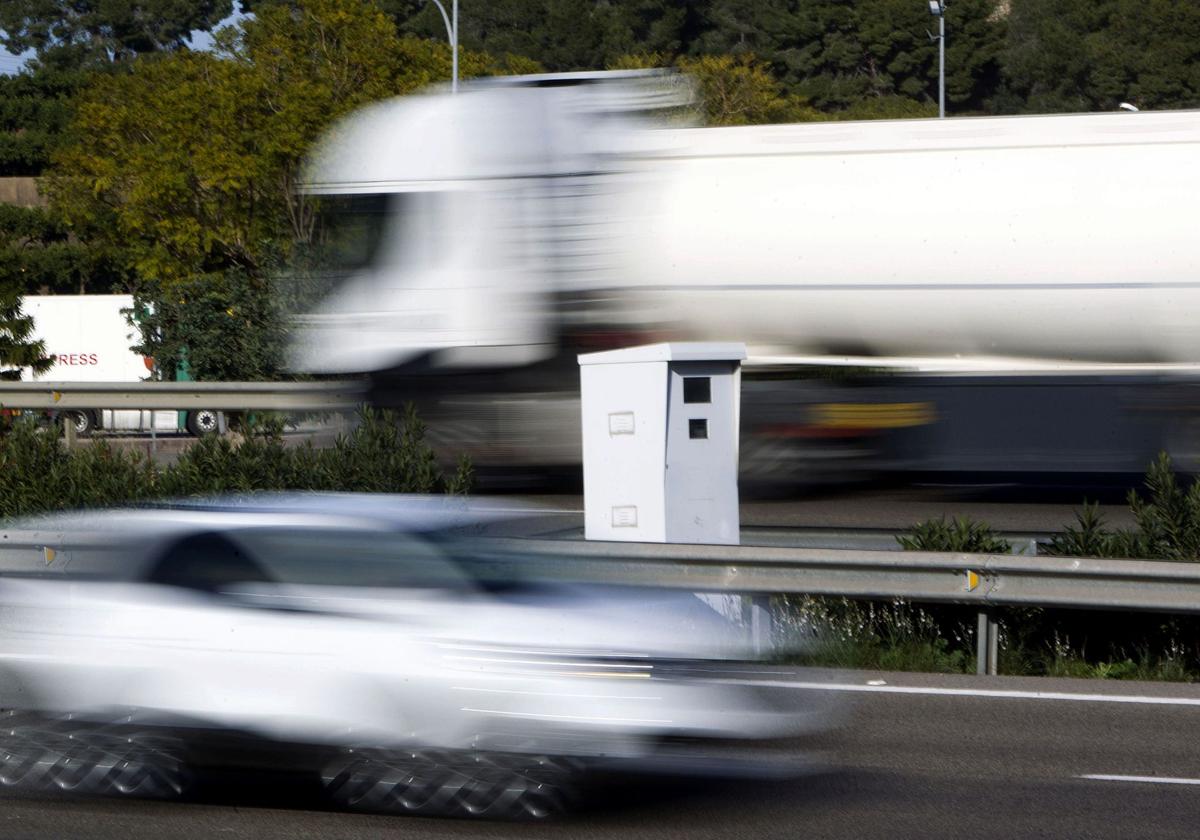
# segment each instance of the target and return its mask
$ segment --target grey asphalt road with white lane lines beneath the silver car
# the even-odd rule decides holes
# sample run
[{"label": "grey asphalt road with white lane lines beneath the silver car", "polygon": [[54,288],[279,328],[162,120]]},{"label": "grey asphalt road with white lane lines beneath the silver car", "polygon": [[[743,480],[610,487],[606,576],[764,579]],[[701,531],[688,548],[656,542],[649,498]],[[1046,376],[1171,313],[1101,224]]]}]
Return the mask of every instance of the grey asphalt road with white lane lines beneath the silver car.
[{"label": "grey asphalt road with white lane lines beneath the silver car", "polygon": [[[796,685],[812,674],[746,678],[790,683],[797,703],[812,697]],[[0,838],[1196,836],[1200,688],[862,672],[817,682],[848,713],[818,744],[827,755],[814,773],[790,781],[614,788],[536,824],[341,814],[308,791],[252,787],[190,803],[6,793]]]}]

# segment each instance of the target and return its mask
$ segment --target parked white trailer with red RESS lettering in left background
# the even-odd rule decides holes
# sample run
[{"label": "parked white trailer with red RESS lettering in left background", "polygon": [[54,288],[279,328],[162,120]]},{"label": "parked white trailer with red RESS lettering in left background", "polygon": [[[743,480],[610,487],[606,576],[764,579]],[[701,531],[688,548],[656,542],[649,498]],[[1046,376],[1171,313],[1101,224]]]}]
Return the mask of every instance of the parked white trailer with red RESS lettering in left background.
[{"label": "parked white trailer with red RESS lettering in left background", "polygon": [[[130,349],[137,343],[136,329],[125,311],[133,307],[132,295],[29,295],[22,301],[34,319],[34,336],[46,342],[54,365],[40,376],[41,382],[140,382],[148,379],[154,360]],[[72,409],[66,419],[77,434],[104,428],[119,432],[215,432],[220,414],[198,412]]]}]

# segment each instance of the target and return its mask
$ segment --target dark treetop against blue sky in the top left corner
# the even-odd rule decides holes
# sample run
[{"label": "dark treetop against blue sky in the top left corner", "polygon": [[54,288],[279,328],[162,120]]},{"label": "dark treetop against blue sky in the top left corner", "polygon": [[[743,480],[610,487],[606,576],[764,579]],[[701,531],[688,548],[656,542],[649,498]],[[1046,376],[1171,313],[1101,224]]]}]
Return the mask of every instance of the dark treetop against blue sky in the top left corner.
[{"label": "dark treetop against blue sky in the top left corner", "polygon": [[233,0],[10,0],[0,5],[0,44],[48,64],[127,61],[186,47],[192,30],[232,12]]}]

